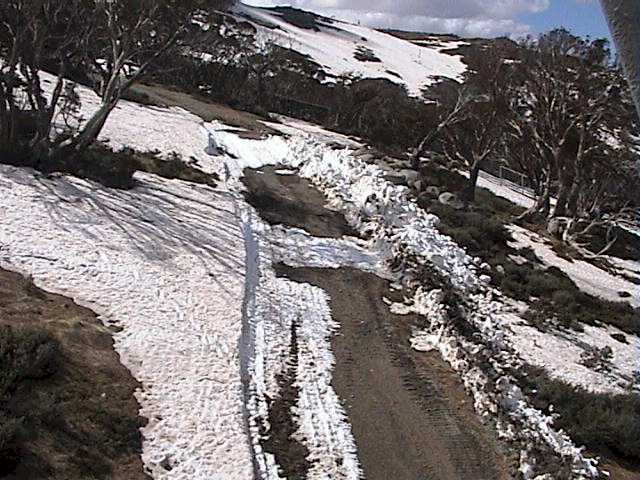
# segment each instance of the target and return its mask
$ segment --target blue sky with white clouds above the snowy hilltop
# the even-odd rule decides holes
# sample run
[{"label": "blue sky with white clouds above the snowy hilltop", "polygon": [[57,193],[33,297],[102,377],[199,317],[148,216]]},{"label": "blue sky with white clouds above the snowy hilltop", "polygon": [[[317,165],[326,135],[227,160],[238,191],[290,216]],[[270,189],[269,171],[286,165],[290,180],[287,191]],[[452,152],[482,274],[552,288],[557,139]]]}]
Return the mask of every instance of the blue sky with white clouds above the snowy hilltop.
[{"label": "blue sky with white clouds above the snowy hilltop", "polygon": [[377,28],[519,38],[556,27],[609,37],[598,0],[244,0],[291,5]]}]

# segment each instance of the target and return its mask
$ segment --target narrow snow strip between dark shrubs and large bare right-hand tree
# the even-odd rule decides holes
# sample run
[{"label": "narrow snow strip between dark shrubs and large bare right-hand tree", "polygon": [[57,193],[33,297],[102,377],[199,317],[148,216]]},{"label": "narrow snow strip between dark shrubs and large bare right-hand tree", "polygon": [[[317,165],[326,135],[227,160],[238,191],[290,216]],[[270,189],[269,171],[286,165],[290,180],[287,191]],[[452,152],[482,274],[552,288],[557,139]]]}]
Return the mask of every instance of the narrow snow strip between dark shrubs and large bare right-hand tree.
[{"label": "narrow snow strip between dark shrubs and large bare right-hand tree", "polygon": [[[509,225],[508,229],[514,239],[510,246],[532,248],[545,265],[562,270],[583,292],[612,302],[628,302],[635,308],[640,307],[640,289],[632,282],[619,275],[612,275],[589,262],[570,261],[559,257],[553,248],[534,232],[517,225]],[[623,298],[619,292],[628,292],[631,296]]]}]

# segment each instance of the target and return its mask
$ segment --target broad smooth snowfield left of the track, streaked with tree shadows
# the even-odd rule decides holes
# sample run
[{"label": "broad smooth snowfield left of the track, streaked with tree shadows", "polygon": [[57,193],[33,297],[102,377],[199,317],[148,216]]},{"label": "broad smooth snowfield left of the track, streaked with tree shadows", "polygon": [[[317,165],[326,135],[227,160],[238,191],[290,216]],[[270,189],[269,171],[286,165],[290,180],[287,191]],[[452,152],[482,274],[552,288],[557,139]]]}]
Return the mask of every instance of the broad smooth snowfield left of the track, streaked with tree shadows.
[{"label": "broad smooth snowfield left of the track, streaked with tree shadows", "polygon": [[142,460],[153,478],[250,478],[233,198],[151,175],[137,181],[125,192],[0,166],[0,266],[122,329],[115,348],[142,383]]}]

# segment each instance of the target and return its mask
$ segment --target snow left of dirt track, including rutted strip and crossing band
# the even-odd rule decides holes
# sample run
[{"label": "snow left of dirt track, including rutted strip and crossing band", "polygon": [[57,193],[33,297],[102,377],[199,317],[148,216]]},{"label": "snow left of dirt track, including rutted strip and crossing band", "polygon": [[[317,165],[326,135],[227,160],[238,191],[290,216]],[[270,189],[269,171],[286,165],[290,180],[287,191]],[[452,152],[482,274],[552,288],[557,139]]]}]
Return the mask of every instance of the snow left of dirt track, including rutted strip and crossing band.
[{"label": "snow left of dirt track, including rutted strip and crossing band", "polygon": [[[97,98],[83,87],[78,93],[88,117]],[[277,163],[289,152],[281,137],[243,141],[181,109],[122,102],[101,140],[160,157],[177,152],[225,180],[214,189],[136,174],[136,187],[119,191],[0,167],[0,266],[121,329],[115,349],[142,384],[136,397],[149,419],[146,470],[162,480],[252,478],[254,468],[278,478],[256,431],[268,414],[259,395],[277,394],[295,322],[301,369],[293,419],[314,461],[309,478],[359,478],[355,442],[330,385],[329,338],[338,326],[326,295],[275,278],[271,263],[376,270],[377,255],[353,241],[336,246],[262,224],[240,194],[244,165],[219,147],[245,165]]]}]

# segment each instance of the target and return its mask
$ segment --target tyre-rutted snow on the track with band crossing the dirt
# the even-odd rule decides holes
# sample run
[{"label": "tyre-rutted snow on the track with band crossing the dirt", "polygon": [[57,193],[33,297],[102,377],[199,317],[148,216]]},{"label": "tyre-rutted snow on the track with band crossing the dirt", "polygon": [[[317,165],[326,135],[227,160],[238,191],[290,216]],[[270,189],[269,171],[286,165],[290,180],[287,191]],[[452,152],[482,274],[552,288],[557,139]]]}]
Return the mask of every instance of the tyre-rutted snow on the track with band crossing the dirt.
[{"label": "tyre-rutted snow on the track with band crossing the dirt", "polygon": [[[245,320],[252,337],[248,352],[250,434],[259,475],[280,479],[276,458],[262,448],[269,435],[270,400],[280,396],[278,379],[295,361],[294,386],[299,397],[292,419],[296,440],[309,450],[309,480],[336,478],[357,480],[361,470],[347,416],[331,386],[333,365],[331,336],[339,325],[331,318],[326,293],[312,285],[278,278],[273,264],[291,266],[365,266],[375,269],[380,260],[355,243],[316,239],[306,232],[264,224],[251,207],[242,207],[248,269],[254,285],[248,285]],[[297,357],[291,358],[295,335]]]}]

